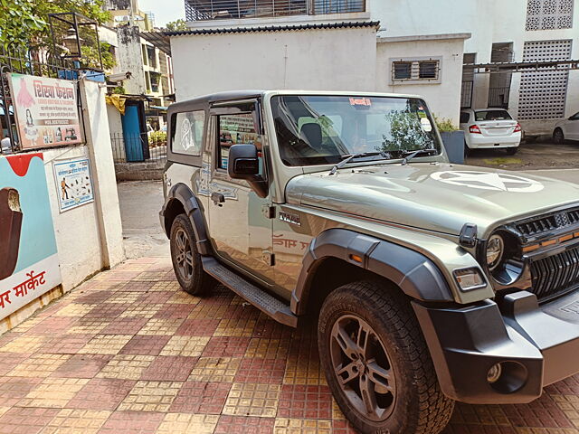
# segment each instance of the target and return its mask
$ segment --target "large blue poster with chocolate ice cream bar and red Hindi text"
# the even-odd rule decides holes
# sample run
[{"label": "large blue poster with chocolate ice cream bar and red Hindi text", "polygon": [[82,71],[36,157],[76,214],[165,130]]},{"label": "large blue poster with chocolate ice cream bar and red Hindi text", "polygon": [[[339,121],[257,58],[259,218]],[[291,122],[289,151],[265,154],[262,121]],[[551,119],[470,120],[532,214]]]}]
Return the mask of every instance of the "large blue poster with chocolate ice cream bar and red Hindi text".
[{"label": "large blue poster with chocolate ice cream bar and red Hindi text", "polygon": [[0,319],[62,283],[43,154],[0,156]]}]

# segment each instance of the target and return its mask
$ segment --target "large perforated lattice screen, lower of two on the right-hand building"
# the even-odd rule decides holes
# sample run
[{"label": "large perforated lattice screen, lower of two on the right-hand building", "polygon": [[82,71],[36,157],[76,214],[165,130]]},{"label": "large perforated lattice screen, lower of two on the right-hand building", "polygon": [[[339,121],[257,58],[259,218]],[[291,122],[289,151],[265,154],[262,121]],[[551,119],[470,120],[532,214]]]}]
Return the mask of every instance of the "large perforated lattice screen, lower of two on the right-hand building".
[{"label": "large perforated lattice screen, lower of two on the right-hand building", "polygon": [[[523,61],[571,59],[571,40],[530,41],[523,46]],[[569,71],[544,67],[521,72],[518,119],[555,119],[565,116]]]}]

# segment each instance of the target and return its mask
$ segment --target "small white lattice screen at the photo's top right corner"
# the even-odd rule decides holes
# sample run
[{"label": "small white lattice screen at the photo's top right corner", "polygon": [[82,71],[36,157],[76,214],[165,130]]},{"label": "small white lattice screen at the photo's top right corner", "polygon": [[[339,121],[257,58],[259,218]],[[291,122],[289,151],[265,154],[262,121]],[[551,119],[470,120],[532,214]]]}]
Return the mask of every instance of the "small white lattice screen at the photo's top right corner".
[{"label": "small white lattice screen at the photo's top right corner", "polygon": [[571,29],[574,0],[527,0],[527,30]]}]

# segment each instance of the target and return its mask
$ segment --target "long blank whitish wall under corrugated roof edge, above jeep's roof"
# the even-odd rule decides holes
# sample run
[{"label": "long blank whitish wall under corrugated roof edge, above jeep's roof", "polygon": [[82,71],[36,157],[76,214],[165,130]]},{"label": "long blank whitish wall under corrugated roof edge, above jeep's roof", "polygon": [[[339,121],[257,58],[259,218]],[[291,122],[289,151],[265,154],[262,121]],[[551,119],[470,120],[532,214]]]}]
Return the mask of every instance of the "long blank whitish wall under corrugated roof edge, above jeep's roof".
[{"label": "long blank whitish wall under corrugated roof edge, above jeep's roof", "polygon": [[222,90],[375,90],[375,29],[171,38],[176,99]]}]

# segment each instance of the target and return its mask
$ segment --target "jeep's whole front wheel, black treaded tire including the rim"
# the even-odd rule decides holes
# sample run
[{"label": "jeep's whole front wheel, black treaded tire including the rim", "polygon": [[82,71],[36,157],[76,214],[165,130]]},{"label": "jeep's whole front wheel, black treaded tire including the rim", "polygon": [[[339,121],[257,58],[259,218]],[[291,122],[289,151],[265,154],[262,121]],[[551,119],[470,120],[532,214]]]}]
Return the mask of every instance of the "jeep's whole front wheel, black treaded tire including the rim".
[{"label": "jeep's whole front wheel, black treaded tire including the rim", "polygon": [[[356,324],[367,332],[356,332]],[[358,355],[353,351],[352,357],[346,356],[344,346],[346,351],[356,348]],[[441,392],[420,326],[409,301],[397,290],[370,281],[337,288],[320,311],[318,348],[338,406],[361,432],[438,434],[451,419],[454,401]],[[362,399],[362,390],[375,398]]]}]

